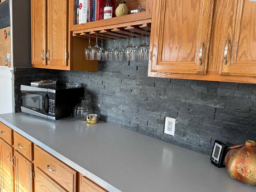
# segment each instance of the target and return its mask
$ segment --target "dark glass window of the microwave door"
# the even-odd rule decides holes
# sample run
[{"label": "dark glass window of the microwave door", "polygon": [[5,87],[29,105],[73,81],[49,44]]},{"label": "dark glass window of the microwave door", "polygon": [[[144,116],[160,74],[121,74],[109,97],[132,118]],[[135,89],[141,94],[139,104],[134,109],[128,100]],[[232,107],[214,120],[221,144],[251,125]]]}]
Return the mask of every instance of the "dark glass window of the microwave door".
[{"label": "dark glass window of the microwave door", "polygon": [[[45,110],[45,100],[47,92],[41,91],[21,91],[21,105],[22,107],[34,110],[41,114],[47,115]],[[48,99],[47,99],[48,100]]]}]

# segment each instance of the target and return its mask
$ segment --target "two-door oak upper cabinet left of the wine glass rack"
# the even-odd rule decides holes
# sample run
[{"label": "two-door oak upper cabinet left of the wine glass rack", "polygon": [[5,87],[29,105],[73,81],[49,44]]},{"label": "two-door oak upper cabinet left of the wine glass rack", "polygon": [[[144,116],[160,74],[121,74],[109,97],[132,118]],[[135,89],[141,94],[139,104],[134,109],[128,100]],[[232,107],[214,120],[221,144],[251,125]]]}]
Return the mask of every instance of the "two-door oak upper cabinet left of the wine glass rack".
[{"label": "two-door oak upper cabinet left of the wine glass rack", "polygon": [[88,39],[77,41],[70,32],[75,21],[69,11],[74,12],[74,6],[74,0],[31,0],[33,67],[97,71],[97,61],[84,58]]}]

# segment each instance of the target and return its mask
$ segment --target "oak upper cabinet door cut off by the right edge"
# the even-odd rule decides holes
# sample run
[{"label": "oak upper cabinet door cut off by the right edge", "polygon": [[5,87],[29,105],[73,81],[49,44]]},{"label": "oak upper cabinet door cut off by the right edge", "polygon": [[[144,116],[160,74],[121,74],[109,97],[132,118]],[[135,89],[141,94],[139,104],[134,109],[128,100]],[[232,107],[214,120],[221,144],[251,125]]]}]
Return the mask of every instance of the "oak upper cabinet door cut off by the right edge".
[{"label": "oak upper cabinet door cut off by the right edge", "polygon": [[256,76],[256,2],[228,0],[224,18],[220,74]]}]

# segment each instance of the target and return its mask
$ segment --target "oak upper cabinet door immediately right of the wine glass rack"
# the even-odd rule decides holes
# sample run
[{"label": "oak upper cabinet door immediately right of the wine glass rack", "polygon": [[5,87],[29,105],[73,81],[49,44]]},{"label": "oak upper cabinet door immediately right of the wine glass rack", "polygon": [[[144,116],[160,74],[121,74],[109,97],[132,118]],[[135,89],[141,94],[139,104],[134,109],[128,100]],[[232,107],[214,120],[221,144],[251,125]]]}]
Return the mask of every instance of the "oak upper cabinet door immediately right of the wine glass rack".
[{"label": "oak upper cabinet door immediately right of the wine glass rack", "polygon": [[206,74],[214,0],[153,2],[150,72]]}]

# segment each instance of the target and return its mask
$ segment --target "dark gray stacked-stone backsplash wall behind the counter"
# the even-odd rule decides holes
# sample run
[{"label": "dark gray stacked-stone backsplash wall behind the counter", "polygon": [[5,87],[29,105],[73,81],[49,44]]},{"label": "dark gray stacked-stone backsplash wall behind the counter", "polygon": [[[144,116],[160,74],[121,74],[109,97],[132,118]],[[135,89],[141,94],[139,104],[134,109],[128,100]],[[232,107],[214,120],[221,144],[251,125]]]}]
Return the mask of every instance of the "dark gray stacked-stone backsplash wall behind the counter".
[{"label": "dark gray stacked-stone backsplash wall behind the counter", "polygon": [[[80,82],[100,120],[202,154],[210,155],[215,139],[228,145],[256,140],[256,85],[152,78],[147,72],[147,62],[126,61],[99,62],[98,72],[15,68],[16,112],[20,84],[51,78]],[[175,136],[163,134],[166,116],[176,118]]]}]

